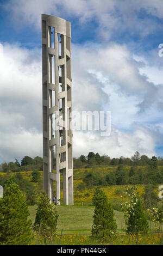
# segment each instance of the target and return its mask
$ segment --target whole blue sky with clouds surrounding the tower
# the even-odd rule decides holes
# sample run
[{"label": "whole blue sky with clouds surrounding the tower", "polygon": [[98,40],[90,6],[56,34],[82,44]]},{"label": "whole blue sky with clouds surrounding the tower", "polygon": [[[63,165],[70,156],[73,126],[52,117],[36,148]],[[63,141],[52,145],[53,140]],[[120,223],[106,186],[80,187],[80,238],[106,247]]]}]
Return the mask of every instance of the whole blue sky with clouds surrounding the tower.
[{"label": "whole blue sky with clouds surrounding the tower", "polygon": [[0,0],[0,163],[42,156],[41,14],[71,22],[73,111],[111,112],[73,156],[163,157],[162,0]]}]

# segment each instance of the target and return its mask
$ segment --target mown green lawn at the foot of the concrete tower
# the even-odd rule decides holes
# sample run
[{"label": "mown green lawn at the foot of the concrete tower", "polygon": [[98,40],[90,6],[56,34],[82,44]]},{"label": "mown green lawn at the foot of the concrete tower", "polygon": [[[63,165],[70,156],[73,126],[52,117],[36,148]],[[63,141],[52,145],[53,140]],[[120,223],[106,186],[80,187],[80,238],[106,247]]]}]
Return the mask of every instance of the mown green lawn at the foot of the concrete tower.
[{"label": "mown green lawn at the foot of the concrete tower", "polygon": [[[91,233],[92,229],[92,216],[94,208],[93,206],[56,206],[58,213],[60,214],[58,218],[57,230],[58,234],[63,233]],[[29,218],[34,223],[36,207],[29,206],[30,216]],[[125,222],[123,213],[114,210],[115,219],[117,223],[117,229],[122,230],[125,228]],[[152,223],[152,230],[155,229],[154,223]]]}]

